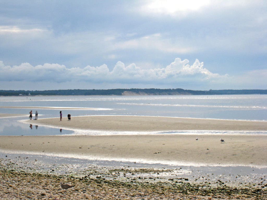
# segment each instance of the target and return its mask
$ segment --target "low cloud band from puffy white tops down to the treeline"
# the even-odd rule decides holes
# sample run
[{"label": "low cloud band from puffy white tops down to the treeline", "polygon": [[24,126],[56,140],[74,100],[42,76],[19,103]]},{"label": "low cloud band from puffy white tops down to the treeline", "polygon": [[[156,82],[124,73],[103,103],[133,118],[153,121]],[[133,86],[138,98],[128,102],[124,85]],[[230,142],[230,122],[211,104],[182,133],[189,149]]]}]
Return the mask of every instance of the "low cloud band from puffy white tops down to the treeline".
[{"label": "low cloud band from puffy white tops down to the treeline", "polygon": [[[107,65],[67,68],[49,64],[32,66],[22,63],[8,66],[0,61],[1,89],[112,89],[112,88],[183,88],[209,89],[266,89],[267,70],[251,70],[239,75],[212,73],[198,59],[176,58],[166,67],[141,68],[135,63],[118,61],[113,69]],[[66,84],[67,83],[67,84]]]}]

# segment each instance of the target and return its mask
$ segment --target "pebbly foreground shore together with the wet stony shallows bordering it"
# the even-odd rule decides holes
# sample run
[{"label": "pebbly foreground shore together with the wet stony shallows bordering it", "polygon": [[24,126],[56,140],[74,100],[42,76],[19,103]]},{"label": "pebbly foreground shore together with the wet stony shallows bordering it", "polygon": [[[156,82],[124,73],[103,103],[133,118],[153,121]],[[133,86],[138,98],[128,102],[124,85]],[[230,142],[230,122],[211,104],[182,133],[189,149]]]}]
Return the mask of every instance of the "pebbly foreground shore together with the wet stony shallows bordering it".
[{"label": "pebbly foreground shore together with the wet stony shallows bordering it", "polygon": [[[104,165],[103,165],[104,164]],[[266,199],[267,168],[140,166],[0,152],[0,198]],[[66,191],[60,182],[74,187]]]}]

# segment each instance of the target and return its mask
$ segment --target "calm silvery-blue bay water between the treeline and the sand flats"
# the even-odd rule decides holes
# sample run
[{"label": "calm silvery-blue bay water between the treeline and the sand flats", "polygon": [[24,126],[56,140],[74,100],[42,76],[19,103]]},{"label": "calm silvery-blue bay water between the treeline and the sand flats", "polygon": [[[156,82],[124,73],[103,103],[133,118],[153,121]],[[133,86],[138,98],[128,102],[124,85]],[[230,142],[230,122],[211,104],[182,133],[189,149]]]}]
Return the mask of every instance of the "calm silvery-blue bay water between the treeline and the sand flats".
[{"label": "calm silvery-blue bay water between the treeline and the sand flats", "polygon": [[[59,135],[73,131],[18,123],[28,119],[34,107],[77,107],[96,110],[60,109],[63,117],[79,115],[145,115],[187,118],[267,120],[267,95],[214,96],[36,96],[0,97],[0,106],[29,106],[33,109],[0,108],[0,113],[27,117],[1,118],[0,135]],[[38,109],[38,118],[59,117],[58,109]],[[172,133],[172,132],[168,132]],[[215,132],[214,132],[215,133]],[[218,133],[218,131],[216,132]],[[226,132],[225,132],[226,133]],[[254,133],[257,134],[257,133]]]}]

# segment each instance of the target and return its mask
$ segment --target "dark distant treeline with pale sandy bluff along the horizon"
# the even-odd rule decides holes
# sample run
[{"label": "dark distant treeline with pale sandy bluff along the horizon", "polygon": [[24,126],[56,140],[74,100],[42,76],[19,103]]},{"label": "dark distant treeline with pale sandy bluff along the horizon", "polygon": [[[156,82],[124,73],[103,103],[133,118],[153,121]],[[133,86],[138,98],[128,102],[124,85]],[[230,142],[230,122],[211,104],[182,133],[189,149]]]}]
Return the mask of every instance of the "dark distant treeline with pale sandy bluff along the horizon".
[{"label": "dark distant treeline with pale sandy bluff along the horizon", "polygon": [[0,90],[0,96],[29,95],[222,95],[267,94],[267,90],[184,90],[184,89],[109,89],[109,90]]}]

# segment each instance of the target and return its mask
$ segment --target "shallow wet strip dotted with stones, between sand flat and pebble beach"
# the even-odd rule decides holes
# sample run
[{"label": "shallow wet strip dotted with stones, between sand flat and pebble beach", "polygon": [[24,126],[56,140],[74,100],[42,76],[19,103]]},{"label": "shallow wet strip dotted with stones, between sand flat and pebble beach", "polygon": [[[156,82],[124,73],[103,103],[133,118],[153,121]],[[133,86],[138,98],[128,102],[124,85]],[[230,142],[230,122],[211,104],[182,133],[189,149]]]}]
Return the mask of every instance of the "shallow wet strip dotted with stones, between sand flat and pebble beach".
[{"label": "shallow wet strip dotted with stones, between sand flat and pebble beach", "polygon": [[[248,166],[181,166],[181,165],[164,165],[160,163],[148,164],[138,162],[119,162],[119,161],[103,161],[88,160],[78,158],[64,158],[47,155],[31,155],[20,153],[6,153],[0,151],[0,159],[2,163],[15,163],[17,167],[23,171],[41,172],[50,174],[73,174],[83,177],[90,175],[96,177],[103,175],[109,170],[120,170],[122,168],[134,171],[140,168],[149,168],[149,173],[127,174],[132,178],[155,178],[155,179],[177,179],[187,178],[192,182],[211,182],[217,180],[225,182],[225,184],[238,186],[244,183],[255,183],[264,185],[267,183],[265,177],[267,168],[257,168]],[[1,161],[1,160],[0,160]],[[92,170],[93,169],[93,170]],[[162,170],[162,172],[161,172]],[[157,171],[159,173],[155,173]],[[107,178],[107,177],[106,177]],[[123,173],[116,177],[117,179],[125,179]],[[151,180],[151,179],[150,179]],[[153,180],[153,179],[152,179]],[[184,181],[184,180],[183,180]]]}]

